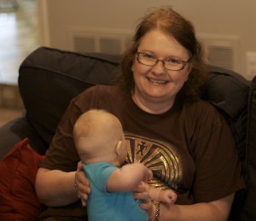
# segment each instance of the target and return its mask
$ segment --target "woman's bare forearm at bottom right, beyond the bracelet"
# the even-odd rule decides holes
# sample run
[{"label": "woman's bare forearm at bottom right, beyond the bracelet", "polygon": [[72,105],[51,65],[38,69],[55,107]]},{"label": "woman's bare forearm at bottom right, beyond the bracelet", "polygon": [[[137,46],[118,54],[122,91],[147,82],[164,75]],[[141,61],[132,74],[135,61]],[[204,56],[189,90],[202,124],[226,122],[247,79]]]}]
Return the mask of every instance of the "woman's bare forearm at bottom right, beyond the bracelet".
[{"label": "woman's bare forearm at bottom right, beyond the bracelet", "polygon": [[173,205],[160,203],[159,221],[189,220],[189,221],[222,221],[227,220],[234,194],[218,201],[196,203],[193,205]]}]

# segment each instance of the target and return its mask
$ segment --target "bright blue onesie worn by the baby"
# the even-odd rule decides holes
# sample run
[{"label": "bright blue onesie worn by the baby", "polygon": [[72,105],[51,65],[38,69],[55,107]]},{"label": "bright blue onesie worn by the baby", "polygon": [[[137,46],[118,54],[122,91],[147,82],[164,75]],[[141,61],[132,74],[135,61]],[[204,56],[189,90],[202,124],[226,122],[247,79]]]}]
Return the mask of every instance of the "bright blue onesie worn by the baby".
[{"label": "bright blue onesie worn by the baby", "polygon": [[148,213],[140,208],[141,201],[132,192],[108,192],[108,177],[117,167],[106,162],[84,164],[84,172],[90,181],[91,193],[87,201],[90,221],[148,221]]}]

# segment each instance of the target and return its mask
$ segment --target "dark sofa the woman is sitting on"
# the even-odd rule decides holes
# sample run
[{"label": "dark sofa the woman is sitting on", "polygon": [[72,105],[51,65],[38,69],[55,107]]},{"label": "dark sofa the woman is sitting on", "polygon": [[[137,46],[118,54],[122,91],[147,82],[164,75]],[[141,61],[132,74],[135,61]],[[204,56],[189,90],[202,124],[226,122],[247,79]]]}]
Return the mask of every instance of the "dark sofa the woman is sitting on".
[{"label": "dark sofa the woman is sitting on", "polygon": [[[45,47],[28,55],[19,70],[20,96],[26,111],[0,128],[0,176],[3,157],[24,138],[44,155],[70,100],[94,84],[114,84],[119,61],[119,55],[79,54]],[[202,98],[229,122],[247,183],[247,189],[236,195],[230,220],[256,220],[256,78],[249,82],[238,73],[209,66]],[[1,207],[5,193],[0,191]],[[0,219],[4,212],[0,208]]]}]

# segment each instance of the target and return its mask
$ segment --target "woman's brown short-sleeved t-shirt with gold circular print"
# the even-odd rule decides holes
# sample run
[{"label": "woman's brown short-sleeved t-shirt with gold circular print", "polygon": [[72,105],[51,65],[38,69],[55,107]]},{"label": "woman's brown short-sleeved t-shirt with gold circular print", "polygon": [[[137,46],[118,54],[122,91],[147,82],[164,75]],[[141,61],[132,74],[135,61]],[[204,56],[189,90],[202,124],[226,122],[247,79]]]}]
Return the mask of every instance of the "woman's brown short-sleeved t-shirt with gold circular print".
[{"label": "woman's brown short-sleeved t-shirt with gold circular print", "polygon": [[151,114],[138,108],[117,86],[97,85],[73,99],[41,166],[76,170],[79,155],[73,125],[90,108],[106,109],[119,118],[127,162],[148,166],[154,172],[151,184],[174,189],[177,204],[215,201],[244,187],[230,128],[211,104],[177,101],[166,113]]}]

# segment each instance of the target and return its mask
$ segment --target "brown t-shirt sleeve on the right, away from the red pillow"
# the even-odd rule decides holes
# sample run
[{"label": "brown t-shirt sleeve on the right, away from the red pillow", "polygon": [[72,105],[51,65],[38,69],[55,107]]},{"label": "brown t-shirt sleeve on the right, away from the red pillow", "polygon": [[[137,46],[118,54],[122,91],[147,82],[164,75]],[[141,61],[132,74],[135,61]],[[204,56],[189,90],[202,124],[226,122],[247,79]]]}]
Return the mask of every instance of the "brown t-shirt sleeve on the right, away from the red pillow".
[{"label": "brown t-shirt sleeve on the right, away from the red pillow", "polygon": [[216,201],[244,188],[241,164],[230,127],[217,110],[212,108],[192,142],[195,160],[193,201]]}]

